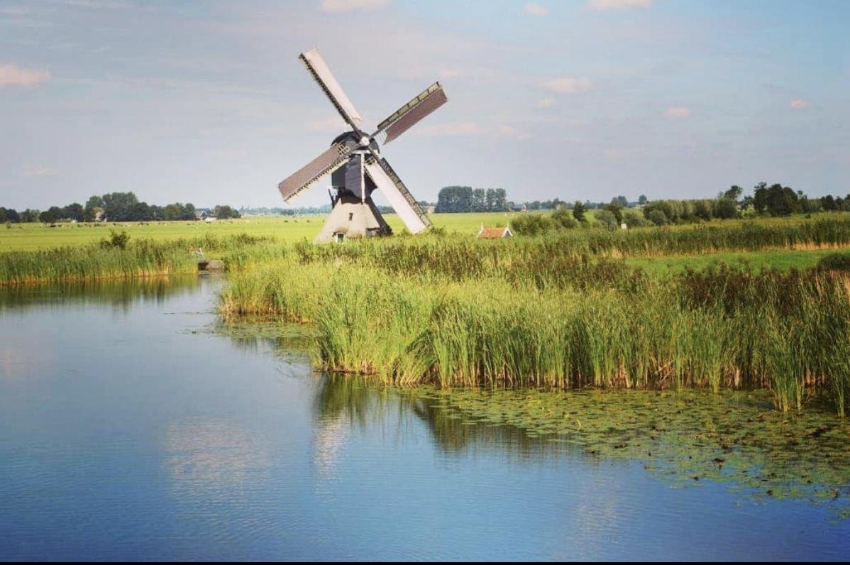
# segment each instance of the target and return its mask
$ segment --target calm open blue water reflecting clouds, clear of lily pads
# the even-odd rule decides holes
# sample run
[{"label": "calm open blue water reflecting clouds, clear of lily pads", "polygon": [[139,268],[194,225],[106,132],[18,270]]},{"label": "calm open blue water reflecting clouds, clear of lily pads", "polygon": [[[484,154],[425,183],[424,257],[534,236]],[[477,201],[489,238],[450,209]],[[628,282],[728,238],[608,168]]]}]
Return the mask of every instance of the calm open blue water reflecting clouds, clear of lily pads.
[{"label": "calm open blue water reflecting clouds, clear of lily pads", "polygon": [[0,559],[850,557],[823,507],[458,431],[211,334],[218,284],[0,290]]}]

